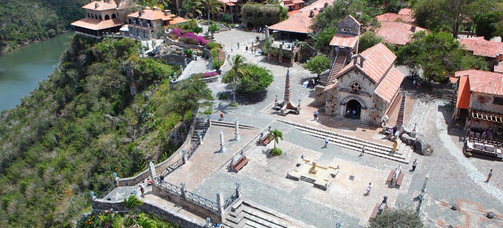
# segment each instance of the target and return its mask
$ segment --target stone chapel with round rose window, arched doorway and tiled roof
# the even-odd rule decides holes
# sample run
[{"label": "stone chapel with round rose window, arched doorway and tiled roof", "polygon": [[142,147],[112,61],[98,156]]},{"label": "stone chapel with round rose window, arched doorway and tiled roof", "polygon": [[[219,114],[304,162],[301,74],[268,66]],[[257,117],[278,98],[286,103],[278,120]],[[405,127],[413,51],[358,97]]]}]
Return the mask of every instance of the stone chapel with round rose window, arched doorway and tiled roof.
[{"label": "stone chapel with round rose window, arched doorway and tiled roof", "polygon": [[336,75],[336,81],[321,94],[325,113],[342,123],[381,126],[393,103],[399,102],[396,97],[405,77],[393,67],[395,59],[382,43],[353,55],[351,62]]}]

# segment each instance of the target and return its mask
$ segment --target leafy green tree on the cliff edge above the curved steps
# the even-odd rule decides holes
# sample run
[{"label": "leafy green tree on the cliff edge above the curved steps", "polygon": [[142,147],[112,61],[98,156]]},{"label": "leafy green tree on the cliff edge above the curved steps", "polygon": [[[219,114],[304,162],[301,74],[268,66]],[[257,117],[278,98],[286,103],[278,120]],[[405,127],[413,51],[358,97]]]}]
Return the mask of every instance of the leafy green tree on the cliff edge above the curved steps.
[{"label": "leafy green tree on the cliff edge above the curved steps", "polygon": [[205,82],[197,79],[184,79],[175,85],[162,108],[178,113],[184,121],[187,111],[197,107],[209,107],[214,100],[211,90]]}]

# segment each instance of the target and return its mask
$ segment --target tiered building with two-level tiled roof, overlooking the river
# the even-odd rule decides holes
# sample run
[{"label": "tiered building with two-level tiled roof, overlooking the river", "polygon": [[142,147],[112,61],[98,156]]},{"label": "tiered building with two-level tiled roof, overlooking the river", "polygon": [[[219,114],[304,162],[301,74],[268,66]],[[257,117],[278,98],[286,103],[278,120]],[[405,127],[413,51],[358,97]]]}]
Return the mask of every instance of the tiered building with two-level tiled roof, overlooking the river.
[{"label": "tiered building with two-level tiled roof, overlooking the river", "polygon": [[121,0],[91,1],[82,8],[86,17],[71,24],[77,34],[102,37],[106,33],[118,33],[124,25],[125,3]]}]

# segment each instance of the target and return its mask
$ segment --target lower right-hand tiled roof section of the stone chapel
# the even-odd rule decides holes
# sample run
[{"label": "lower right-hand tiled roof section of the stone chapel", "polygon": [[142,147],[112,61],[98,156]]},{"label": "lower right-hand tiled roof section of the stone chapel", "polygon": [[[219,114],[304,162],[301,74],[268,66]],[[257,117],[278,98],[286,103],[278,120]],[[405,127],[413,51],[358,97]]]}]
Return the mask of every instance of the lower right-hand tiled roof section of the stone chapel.
[{"label": "lower right-hand tiled roof section of the stone chapel", "polygon": [[[365,64],[363,64],[365,66]],[[395,67],[391,67],[388,73],[384,75],[383,79],[376,86],[374,92],[381,97],[384,101],[390,103],[396,94],[396,91],[400,89],[400,84],[404,81],[405,75],[397,70]]]}]

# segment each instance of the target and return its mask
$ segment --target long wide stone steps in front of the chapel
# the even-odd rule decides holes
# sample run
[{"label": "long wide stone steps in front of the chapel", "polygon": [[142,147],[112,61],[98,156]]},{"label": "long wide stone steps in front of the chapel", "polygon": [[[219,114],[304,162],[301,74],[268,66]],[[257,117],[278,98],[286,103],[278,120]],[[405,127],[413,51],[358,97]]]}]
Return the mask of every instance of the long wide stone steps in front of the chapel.
[{"label": "long wide stone steps in front of the chapel", "polygon": [[365,154],[370,154],[373,156],[377,156],[380,158],[388,159],[395,162],[400,162],[404,164],[409,164],[410,158],[412,156],[412,148],[410,146],[405,145],[404,143],[399,141],[398,150],[393,152],[393,148],[391,146],[383,145],[377,142],[366,141],[359,138],[354,138],[350,136],[346,136],[343,134],[330,132],[326,130],[320,130],[314,127],[300,125],[297,123],[285,122],[290,125],[295,126],[295,128],[301,130],[303,133],[312,135],[318,138],[324,139],[325,136],[328,135],[328,140],[335,145],[356,150],[358,153],[361,151],[361,147],[365,145]]}]

